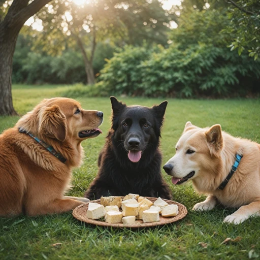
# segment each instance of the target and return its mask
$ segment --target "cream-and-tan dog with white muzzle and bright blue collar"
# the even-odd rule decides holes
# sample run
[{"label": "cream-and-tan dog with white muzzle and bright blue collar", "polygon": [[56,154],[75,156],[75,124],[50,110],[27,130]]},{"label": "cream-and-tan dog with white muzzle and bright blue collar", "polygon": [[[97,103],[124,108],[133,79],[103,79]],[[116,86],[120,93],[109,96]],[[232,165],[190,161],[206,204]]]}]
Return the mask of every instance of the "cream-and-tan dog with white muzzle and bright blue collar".
[{"label": "cream-and-tan dog with white muzzle and bright blue collar", "polygon": [[235,224],[259,216],[260,145],[232,137],[219,124],[199,128],[187,122],[164,169],[174,184],[192,180],[198,192],[208,195],[193,210],[211,210],[218,203],[239,208],[224,219]]}]

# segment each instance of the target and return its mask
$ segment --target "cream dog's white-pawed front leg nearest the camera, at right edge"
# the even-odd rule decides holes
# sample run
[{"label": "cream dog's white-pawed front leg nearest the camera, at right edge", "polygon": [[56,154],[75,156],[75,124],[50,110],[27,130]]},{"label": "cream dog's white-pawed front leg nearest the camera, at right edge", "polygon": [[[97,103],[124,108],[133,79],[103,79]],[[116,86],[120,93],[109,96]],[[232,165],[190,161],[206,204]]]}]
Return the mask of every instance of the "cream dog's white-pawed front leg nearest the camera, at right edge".
[{"label": "cream dog's white-pawed front leg nearest the camera, at right edge", "polygon": [[259,215],[260,215],[260,201],[256,201],[246,206],[242,206],[233,214],[226,216],[224,222],[239,224],[251,216],[259,216]]}]

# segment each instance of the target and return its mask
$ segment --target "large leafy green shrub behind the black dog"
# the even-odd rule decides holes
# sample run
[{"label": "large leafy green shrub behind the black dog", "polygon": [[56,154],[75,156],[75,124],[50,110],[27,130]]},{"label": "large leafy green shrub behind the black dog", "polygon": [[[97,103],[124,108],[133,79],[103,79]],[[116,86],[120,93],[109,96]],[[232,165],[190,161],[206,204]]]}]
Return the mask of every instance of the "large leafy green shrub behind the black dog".
[{"label": "large leafy green shrub behind the black dog", "polygon": [[113,94],[189,98],[260,90],[260,62],[212,44],[193,44],[184,50],[172,44],[156,52],[128,46],[109,60],[102,73],[100,85]]}]

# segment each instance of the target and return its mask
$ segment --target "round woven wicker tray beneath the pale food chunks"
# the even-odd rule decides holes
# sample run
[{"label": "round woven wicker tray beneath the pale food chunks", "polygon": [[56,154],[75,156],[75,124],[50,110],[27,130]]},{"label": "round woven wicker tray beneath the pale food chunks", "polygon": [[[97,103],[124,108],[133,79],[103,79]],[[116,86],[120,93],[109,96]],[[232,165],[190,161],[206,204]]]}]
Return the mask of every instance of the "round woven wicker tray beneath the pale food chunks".
[{"label": "round woven wicker tray beneath the pale food chunks", "polygon": [[[122,197],[122,199],[123,198],[124,197]],[[145,198],[147,198],[151,202],[155,202],[158,199],[158,198],[151,198],[151,197],[145,197]],[[93,225],[113,226],[113,228],[145,228],[146,226],[164,225],[164,224],[169,224],[169,223],[178,221],[178,220],[184,218],[187,215],[187,209],[184,205],[182,205],[178,202],[175,202],[175,201],[169,201],[169,200],[164,200],[164,201],[167,202],[168,204],[178,205],[179,213],[178,213],[177,216],[175,216],[175,217],[162,217],[160,215],[159,221],[145,222],[145,223],[143,222],[143,220],[137,219],[136,223],[133,224],[133,225],[124,225],[122,222],[120,222],[120,223],[107,223],[105,221],[101,221],[101,220],[98,220],[98,219],[95,220],[95,219],[87,218],[88,202],[78,206],[77,208],[75,208],[73,210],[72,214],[78,220],[84,221],[86,223],[93,224]],[[101,204],[100,200],[91,201],[91,202]]]}]

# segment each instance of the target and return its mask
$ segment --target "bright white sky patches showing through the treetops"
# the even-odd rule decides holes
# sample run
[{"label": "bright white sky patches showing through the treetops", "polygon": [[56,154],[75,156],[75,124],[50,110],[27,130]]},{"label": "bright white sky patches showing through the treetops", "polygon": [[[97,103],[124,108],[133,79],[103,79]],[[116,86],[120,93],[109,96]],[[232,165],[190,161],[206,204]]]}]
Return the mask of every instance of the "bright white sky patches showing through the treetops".
[{"label": "bright white sky patches showing through the treetops", "polygon": [[[79,6],[83,6],[84,4],[89,3],[89,0],[72,0],[76,5]],[[182,0],[158,0],[159,2],[161,2],[161,4],[163,5],[163,9],[165,10],[170,10],[172,8],[173,5],[175,6],[180,6]],[[52,5],[48,5],[48,11],[51,13],[53,10]],[[72,20],[72,16],[70,15],[69,12],[66,12],[65,14],[67,21],[71,21]],[[43,24],[42,24],[42,20],[37,19],[35,20],[34,17],[30,17],[26,22],[25,25],[28,26],[32,26],[33,29],[41,31],[43,30]],[[168,25],[169,26],[169,25]],[[170,28],[177,28],[177,23],[174,21],[170,21]],[[86,30],[88,30],[88,28],[84,28]]]}]

